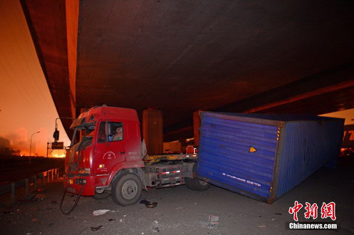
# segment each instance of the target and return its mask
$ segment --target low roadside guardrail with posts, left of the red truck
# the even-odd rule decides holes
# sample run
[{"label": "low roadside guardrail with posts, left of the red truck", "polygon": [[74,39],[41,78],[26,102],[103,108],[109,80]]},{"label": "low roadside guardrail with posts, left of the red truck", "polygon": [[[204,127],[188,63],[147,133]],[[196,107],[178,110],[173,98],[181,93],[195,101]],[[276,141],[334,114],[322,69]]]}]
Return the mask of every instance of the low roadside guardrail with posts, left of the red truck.
[{"label": "low roadside guardrail with posts, left of the red truck", "polygon": [[[32,175],[30,177],[27,177],[25,179],[11,181],[11,182],[8,182],[6,184],[1,185],[1,187],[6,187],[6,186],[8,186],[10,184],[10,187],[11,187],[11,191],[10,191],[11,192],[11,202],[13,203],[13,202],[16,201],[16,195],[15,194],[16,194],[16,190],[17,189],[21,189],[21,187],[25,187],[25,195],[27,196],[29,194],[30,182],[33,182],[34,190],[37,190],[37,188],[38,188],[38,183],[37,183],[38,179],[40,179],[40,184],[43,185],[45,178],[47,178],[47,183],[50,180],[54,180],[55,178],[59,179],[60,172],[64,172],[64,167],[53,168],[53,169],[50,169],[48,171],[43,171],[41,173],[34,174],[34,175]],[[17,188],[16,188],[16,183],[18,185]],[[24,185],[22,185],[22,183]],[[9,190],[7,190],[6,193],[9,193]],[[4,193],[4,194],[6,194],[6,193]]]}]

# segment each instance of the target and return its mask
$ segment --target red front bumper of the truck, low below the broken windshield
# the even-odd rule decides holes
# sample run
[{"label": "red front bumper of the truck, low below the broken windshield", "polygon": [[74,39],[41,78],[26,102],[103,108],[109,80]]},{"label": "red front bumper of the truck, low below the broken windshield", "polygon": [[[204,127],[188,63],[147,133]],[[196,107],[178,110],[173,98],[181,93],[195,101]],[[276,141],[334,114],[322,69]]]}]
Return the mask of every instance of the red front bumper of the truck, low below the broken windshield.
[{"label": "red front bumper of the truck, low below the broken windshield", "polygon": [[64,175],[64,187],[68,185],[67,192],[79,194],[81,188],[81,196],[95,196],[95,177],[93,176],[70,176]]}]

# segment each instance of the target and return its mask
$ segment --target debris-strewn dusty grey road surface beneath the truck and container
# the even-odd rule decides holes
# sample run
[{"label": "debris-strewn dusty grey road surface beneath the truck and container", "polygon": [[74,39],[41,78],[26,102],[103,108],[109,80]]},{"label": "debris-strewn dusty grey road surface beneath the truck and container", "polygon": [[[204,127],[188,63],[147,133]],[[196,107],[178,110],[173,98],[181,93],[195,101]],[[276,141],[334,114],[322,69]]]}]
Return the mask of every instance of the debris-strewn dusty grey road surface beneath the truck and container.
[{"label": "debris-strewn dusty grey road surface beneath the truck and container", "polygon": [[[181,185],[143,192],[139,201],[157,202],[155,208],[147,208],[145,201],[121,207],[110,197],[81,197],[75,210],[64,215],[63,182],[54,180],[40,186],[42,191],[32,192],[37,198],[17,194],[19,200],[10,204],[10,196],[3,195],[0,234],[354,234],[353,163],[354,158],[339,159],[339,167],[320,169],[273,205],[216,186],[196,192]],[[74,200],[68,195],[65,203]],[[289,208],[295,201],[303,205],[298,220],[306,222],[332,221],[321,218],[320,208],[323,202],[334,202],[338,228],[287,230],[286,223],[294,222]],[[304,218],[306,202],[319,206],[316,220]]]}]

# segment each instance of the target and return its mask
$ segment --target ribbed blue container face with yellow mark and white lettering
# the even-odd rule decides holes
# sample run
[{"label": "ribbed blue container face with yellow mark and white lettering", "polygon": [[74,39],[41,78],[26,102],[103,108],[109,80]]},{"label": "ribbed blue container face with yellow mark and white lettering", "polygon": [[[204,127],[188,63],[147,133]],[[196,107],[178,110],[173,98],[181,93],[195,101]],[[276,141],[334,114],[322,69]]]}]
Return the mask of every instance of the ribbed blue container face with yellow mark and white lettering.
[{"label": "ribbed blue container face with yellow mark and white lettering", "polygon": [[196,175],[233,192],[267,201],[272,193],[277,138],[275,125],[202,113]]}]

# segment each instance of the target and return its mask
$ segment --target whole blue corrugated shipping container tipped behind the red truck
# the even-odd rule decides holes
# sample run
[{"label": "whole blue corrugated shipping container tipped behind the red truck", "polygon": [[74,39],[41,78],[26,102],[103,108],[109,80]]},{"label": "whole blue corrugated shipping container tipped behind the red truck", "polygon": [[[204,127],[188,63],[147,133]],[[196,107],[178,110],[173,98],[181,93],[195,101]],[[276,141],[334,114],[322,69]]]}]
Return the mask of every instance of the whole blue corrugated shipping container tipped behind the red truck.
[{"label": "whole blue corrugated shipping container tipped behind the red truck", "polygon": [[196,177],[272,204],[338,156],[344,119],[200,112]]}]

